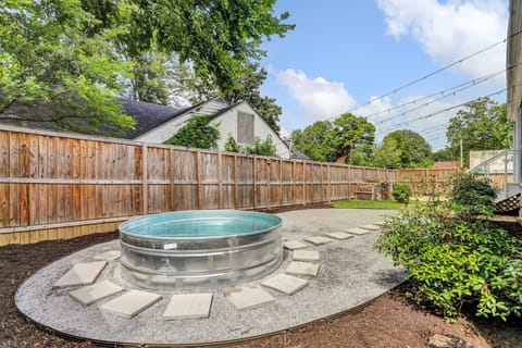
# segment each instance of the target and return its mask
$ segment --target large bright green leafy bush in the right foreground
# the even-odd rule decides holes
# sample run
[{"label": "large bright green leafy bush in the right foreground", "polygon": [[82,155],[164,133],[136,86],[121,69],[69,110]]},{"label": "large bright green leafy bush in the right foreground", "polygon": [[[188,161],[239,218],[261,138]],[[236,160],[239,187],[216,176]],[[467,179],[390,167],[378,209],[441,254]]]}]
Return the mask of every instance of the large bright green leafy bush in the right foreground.
[{"label": "large bright green leafy bush in the right foreground", "polygon": [[[456,181],[468,183],[459,190],[471,182]],[[486,220],[470,219],[469,209],[455,200],[435,199],[403,211],[385,224],[376,248],[406,269],[413,285],[409,296],[438,308],[448,320],[465,303],[482,316],[520,316],[522,240]]]}]

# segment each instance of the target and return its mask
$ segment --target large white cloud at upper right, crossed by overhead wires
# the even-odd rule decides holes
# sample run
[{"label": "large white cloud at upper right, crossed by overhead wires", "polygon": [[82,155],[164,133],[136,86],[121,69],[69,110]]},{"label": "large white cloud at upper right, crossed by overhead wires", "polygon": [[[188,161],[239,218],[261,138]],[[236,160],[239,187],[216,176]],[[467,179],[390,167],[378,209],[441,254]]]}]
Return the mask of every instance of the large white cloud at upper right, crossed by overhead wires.
[{"label": "large white cloud at upper right, crossed by overhead wires", "polygon": [[[496,44],[507,34],[506,0],[378,0],[387,33],[399,39],[410,35],[442,65]],[[506,45],[456,66],[473,77],[500,71]]]}]

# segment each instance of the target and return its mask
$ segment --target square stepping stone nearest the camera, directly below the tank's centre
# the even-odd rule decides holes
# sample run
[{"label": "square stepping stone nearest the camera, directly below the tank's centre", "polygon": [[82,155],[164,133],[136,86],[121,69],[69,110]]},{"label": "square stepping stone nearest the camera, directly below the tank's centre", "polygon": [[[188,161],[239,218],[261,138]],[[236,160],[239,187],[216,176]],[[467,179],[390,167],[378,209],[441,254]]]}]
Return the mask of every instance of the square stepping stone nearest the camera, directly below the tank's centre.
[{"label": "square stepping stone nearest the camera, directly below the tank's centre", "polygon": [[173,295],[163,320],[209,318],[212,294]]}]

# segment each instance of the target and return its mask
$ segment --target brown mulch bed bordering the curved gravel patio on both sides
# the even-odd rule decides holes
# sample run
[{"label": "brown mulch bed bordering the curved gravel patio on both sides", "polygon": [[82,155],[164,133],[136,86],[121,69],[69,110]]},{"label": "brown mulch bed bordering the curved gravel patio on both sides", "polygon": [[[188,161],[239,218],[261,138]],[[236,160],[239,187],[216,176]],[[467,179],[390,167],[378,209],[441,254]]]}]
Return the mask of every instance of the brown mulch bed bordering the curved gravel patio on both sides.
[{"label": "brown mulch bed bordering the curved gravel patio on both sides", "polygon": [[[330,208],[314,204],[307,208]],[[295,208],[294,208],[295,209]],[[302,209],[302,207],[298,207]],[[286,210],[291,210],[288,208]],[[37,328],[18,314],[14,293],[18,285],[44,265],[79,249],[117,238],[117,234],[96,234],[69,240],[0,247],[0,347],[94,347],[75,343]],[[520,323],[477,321],[465,316],[450,324],[406,298],[400,286],[359,313],[308,324],[293,332],[246,341],[236,347],[427,347],[434,334],[459,337],[474,348],[522,347]]]}]

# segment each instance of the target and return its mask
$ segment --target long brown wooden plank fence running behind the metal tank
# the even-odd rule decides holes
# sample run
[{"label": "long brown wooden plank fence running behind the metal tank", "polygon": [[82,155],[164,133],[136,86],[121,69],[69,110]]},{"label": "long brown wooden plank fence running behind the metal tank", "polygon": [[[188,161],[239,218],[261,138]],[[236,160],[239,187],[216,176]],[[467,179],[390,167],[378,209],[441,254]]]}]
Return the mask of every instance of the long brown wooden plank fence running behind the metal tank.
[{"label": "long brown wooden plank fence running behind the metal tank", "polygon": [[402,175],[2,125],[0,245],[114,231],[130,216],[164,211],[350,199],[361,183]]}]

